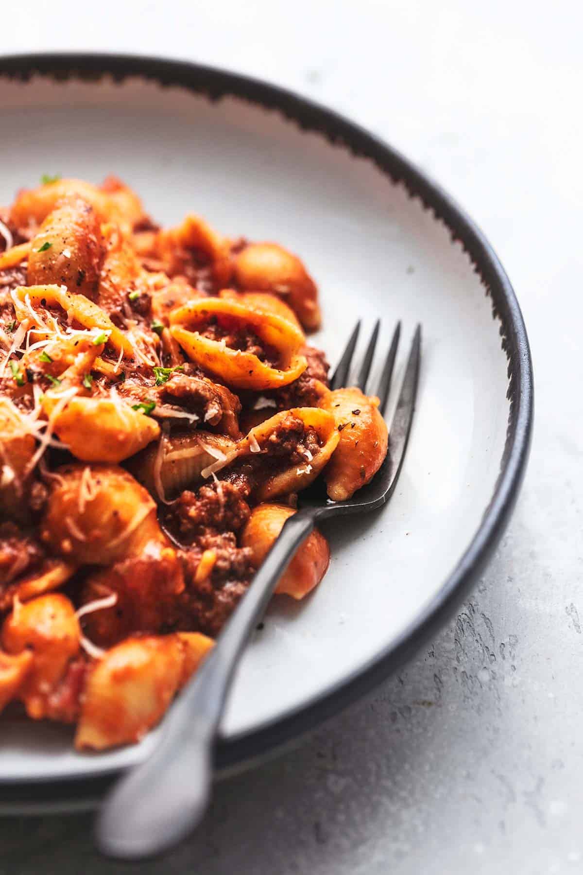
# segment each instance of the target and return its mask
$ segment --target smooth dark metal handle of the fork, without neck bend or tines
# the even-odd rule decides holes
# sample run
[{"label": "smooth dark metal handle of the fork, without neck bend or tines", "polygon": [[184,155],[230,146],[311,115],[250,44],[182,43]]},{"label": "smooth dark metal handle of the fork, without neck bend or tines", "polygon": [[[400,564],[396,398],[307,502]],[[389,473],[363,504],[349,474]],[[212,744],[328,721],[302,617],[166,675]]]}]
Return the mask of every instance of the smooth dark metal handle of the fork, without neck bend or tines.
[{"label": "smooth dark metal handle of the fork, without neck bend or tines", "polygon": [[211,654],[172,706],[154,752],[108,795],[96,828],[104,853],[124,859],[159,853],[202,819],[211,792],[212,746],[239,656],[315,517],[306,507],[285,522]]}]

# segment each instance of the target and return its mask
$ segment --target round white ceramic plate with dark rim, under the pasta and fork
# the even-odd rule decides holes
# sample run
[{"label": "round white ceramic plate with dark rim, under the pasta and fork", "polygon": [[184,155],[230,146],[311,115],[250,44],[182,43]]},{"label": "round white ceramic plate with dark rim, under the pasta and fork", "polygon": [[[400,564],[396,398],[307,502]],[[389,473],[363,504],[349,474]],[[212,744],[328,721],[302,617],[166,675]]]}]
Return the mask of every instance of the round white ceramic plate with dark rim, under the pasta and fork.
[{"label": "round white ceramic plate with dark rim, under the pasta and fork", "polygon": [[[445,620],[496,543],[531,430],[516,299],[480,232],[420,172],[276,88],[172,62],[46,56],[0,60],[0,105],[0,203],[42,173],[97,182],[114,172],[163,223],[196,211],[226,234],[281,242],[320,285],[314,341],[331,361],[357,317],[366,328],[380,316],[386,342],[401,318],[403,356],[422,322],[418,409],[397,491],[378,513],[327,529],[330,571],[313,596],[270,607],[223,721],[219,764],[239,763],[394,669]],[[56,725],[0,721],[0,782],[111,774],[141,760],[153,736],[100,755],[75,753],[71,740]]]}]

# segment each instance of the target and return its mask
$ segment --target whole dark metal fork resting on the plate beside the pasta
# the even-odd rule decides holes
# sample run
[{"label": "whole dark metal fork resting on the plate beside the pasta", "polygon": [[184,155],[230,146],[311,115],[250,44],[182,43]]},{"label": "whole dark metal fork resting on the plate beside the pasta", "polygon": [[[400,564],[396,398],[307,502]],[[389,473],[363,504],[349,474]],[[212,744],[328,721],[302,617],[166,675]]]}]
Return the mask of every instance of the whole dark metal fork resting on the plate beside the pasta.
[{"label": "whole dark metal fork resting on the plate beside the pasta", "polygon": [[[380,323],[374,326],[355,382],[349,380],[360,322],[350,335],[330,382],[331,388],[357,385],[366,392]],[[385,408],[399,346],[400,323],[392,335],[376,395]],[[371,482],[347,501],[329,502],[308,490],[300,509],[290,516],[260,570],[205,660],[164,720],[160,741],[148,760],[115,786],[97,821],[101,851],[124,859],[139,859],[164,851],[186,835],[205,814],[211,795],[212,747],[234,669],[257,621],[265,611],[277,581],[295,550],[316,521],[339,514],[365,513],[389,500],[399,478],[413,421],[420,370],[421,326],[409,352],[405,377],[392,417],[389,452]],[[372,394],[372,393],[371,393]],[[302,498],[302,493],[300,493]]]}]

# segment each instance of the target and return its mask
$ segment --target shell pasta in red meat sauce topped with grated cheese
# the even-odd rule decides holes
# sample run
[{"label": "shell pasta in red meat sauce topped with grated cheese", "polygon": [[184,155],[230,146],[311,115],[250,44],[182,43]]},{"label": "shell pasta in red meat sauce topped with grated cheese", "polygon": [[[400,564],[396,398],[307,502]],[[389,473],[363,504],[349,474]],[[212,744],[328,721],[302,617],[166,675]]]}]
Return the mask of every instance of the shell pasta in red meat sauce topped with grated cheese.
[{"label": "shell pasta in red meat sauce topped with grated cheese", "polygon": [[[75,746],[156,725],[298,493],[346,500],[387,451],[378,399],[331,391],[298,255],[170,228],[115,177],[0,208],[0,710]],[[277,592],[330,560],[314,532]]]}]

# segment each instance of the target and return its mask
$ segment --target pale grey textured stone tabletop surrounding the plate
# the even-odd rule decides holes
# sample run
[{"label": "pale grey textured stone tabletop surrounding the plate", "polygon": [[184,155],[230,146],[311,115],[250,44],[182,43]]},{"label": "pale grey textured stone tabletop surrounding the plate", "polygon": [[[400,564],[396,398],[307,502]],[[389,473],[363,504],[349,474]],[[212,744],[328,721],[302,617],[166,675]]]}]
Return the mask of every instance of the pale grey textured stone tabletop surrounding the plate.
[{"label": "pale grey textured stone tabletop surrounding the plate", "polygon": [[[583,869],[581,9],[569,0],[3,7],[0,52],[218,63],[381,133],[482,225],[515,284],[535,361],[524,491],[459,616],[369,701],[222,782],[204,828],[142,865],[145,875]],[[0,872],[130,868],[97,858],[90,824],[0,822]]]}]

